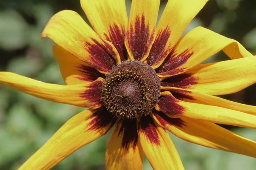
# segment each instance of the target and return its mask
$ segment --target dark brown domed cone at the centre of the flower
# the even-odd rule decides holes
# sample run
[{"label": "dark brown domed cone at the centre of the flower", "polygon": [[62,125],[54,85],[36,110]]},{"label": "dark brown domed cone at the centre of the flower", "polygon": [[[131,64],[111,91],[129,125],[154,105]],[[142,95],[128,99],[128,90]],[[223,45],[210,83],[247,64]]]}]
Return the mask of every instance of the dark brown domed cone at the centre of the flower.
[{"label": "dark brown domed cone at the centre of the flower", "polygon": [[144,62],[125,61],[112,68],[102,89],[102,101],[113,116],[146,116],[158,102],[160,79]]}]

